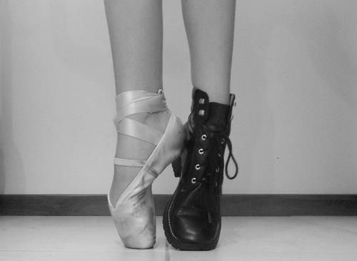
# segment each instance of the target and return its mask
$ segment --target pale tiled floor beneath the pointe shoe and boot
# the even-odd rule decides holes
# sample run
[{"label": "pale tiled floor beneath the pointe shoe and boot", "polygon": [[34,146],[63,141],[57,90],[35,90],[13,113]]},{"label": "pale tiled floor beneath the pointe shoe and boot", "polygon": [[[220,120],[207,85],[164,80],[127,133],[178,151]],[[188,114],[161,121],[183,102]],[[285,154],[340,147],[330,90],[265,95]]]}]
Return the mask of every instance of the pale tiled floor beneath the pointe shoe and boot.
[{"label": "pale tiled floor beneath the pointe shoe and boot", "polygon": [[357,217],[223,218],[216,250],[121,245],[109,217],[0,217],[0,260],[357,260]]}]

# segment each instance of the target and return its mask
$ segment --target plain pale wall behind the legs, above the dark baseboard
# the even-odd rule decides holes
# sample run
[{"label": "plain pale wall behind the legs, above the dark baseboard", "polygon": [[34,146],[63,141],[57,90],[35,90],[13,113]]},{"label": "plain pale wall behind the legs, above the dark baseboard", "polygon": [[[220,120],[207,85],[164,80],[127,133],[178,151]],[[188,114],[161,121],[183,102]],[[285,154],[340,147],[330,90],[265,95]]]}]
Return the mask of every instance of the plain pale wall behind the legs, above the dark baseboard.
[{"label": "plain pale wall behind the legs, above the dark baseboard", "polygon": [[[0,0],[0,193],[106,193],[114,76],[101,0]],[[357,4],[237,1],[225,193],[357,193]],[[164,84],[191,101],[180,1],[164,1]],[[172,193],[166,172],[155,193]]]}]

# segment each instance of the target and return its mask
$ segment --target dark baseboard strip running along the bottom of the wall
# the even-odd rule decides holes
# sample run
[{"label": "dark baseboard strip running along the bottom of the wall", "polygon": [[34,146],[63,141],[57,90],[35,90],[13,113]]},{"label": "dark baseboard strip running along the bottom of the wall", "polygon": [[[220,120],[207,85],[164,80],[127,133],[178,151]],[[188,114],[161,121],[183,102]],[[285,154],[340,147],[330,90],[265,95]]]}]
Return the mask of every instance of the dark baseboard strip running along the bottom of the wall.
[{"label": "dark baseboard strip running along the bottom of the wall", "polygon": [[[154,195],[162,215],[170,195]],[[357,215],[357,195],[223,195],[223,216]],[[0,195],[0,215],[109,215],[106,195]]]}]

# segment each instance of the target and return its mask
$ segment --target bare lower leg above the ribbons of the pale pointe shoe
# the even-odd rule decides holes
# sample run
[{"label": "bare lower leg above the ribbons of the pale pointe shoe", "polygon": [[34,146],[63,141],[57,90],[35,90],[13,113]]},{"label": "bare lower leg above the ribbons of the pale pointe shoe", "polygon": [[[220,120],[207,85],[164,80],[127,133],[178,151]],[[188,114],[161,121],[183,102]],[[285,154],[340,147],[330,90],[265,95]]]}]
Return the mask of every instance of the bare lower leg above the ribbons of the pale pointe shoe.
[{"label": "bare lower leg above the ribbons of the pale pointe shoe", "polygon": [[116,93],[162,86],[162,0],[105,0]]}]

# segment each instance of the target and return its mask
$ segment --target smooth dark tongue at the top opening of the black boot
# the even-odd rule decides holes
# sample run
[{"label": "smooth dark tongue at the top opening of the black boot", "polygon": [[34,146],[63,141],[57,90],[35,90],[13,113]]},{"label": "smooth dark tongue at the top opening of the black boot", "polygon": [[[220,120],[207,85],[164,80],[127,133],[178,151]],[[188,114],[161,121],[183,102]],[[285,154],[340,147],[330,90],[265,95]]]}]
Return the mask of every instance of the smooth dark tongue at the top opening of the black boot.
[{"label": "smooth dark tongue at the top opening of the black boot", "polygon": [[209,103],[209,116],[206,126],[211,131],[224,131],[228,124],[229,106],[222,103]]}]

